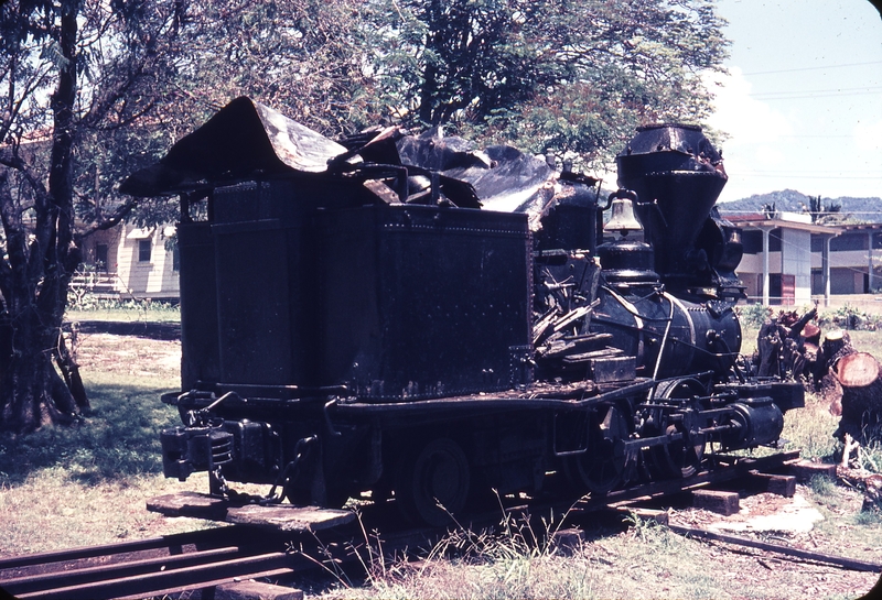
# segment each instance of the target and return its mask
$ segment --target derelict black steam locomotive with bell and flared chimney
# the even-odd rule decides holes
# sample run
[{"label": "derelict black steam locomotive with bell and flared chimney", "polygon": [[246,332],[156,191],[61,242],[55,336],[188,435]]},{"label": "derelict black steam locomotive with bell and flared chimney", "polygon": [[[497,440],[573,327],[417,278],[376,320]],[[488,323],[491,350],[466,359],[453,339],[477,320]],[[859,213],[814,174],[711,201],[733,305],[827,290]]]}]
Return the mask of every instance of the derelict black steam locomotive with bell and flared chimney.
[{"label": "derelict black steam locomotive with bell and flared chimney", "polygon": [[490,490],[598,497],[774,445],[803,388],[739,354],[720,153],[656,124],[616,162],[601,198],[510,148],[338,144],[234,100],[121,186],[181,197],[165,476],[442,524]]}]

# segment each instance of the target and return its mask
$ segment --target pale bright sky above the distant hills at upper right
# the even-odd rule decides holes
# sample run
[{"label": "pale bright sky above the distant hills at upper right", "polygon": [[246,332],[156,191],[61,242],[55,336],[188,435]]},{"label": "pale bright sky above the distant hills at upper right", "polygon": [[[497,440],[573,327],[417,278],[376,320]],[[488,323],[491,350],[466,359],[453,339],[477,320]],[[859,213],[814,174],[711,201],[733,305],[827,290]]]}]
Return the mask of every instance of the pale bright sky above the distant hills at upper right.
[{"label": "pale bright sky above the distant hills at upper right", "polygon": [[721,201],[778,189],[882,197],[882,19],[867,0],[718,0],[732,41],[708,124]]}]

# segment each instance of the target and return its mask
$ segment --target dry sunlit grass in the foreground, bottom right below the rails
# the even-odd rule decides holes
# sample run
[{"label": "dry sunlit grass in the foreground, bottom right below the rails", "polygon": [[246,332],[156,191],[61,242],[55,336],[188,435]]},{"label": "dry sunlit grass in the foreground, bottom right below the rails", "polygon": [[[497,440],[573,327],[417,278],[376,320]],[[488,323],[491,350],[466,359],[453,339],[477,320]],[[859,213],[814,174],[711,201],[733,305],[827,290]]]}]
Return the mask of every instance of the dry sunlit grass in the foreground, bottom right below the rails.
[{"label": "dry sunlit grass in the foreground, bottom right below the rails", "polygon": [[[438,552],[418,563],[385,563],[368,587],[341,585],[324,598],[841,599],[865,592],[876,578],[875,574],[788,563],[743,547],[730,552],[720,544],[679,536],[654,522],[628,521],[631,527],[624,532],[588,531],[589,538],[570,555],[525,543],[523,530],[516,527],[492,538],[477,536],[480,554],[465,552],[441,559],[443,553]],[[859,544],[849,552],[872,559],[875,554],[863,550],[876,545],[872,535],[878,535],[878,527],[863,527],[864,535],[850,523],[831,520],[828,528],[849,531]],[[842,541],[846,534],[833,535]],[[463,538],[475,541],[474,534],[454,533],[439,547],[452,545],[462,553]],[[839,586],[805,594],[807,585],[828,578]]]}]

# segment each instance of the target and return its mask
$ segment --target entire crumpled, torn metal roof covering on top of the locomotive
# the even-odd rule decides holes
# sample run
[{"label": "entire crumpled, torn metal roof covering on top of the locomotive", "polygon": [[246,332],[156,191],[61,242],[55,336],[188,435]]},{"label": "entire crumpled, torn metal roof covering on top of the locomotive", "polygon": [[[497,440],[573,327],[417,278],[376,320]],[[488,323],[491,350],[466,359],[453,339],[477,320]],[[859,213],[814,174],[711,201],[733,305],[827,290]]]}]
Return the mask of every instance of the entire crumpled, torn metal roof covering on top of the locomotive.
[{"label": "entire crumpled, torn metal roof covering on top of the locomotive", "polygon": [[[383,167],[391,167],[395,176]],[[337,143],[240,97],[158,163],[128,177],[120,192],[162,196],[299,175],[375,181],[367,187],[384,203],[395,203],[397,194],[407,204],[450,201],[461,208],[524,212],[533,231],[542,228],[556,195],[562,198],[569,190],[558,185],[559,174],[544,159],[512,146],[480,150],[462,138],[445,137],[441,128],[415,137],[397,127]],[[401,175],[408,177],[407,189],[397,183]]]}]

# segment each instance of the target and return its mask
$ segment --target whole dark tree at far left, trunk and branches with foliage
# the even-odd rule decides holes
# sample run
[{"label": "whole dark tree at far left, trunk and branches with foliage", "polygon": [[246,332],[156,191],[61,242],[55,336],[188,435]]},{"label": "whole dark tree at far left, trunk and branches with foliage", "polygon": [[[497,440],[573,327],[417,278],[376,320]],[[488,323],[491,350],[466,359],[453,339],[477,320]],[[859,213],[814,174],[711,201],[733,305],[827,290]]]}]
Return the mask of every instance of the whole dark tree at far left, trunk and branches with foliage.
[{"label": "whole dark tree at far left, trunk and branches with foliage", "polygon": [[112,140],[131,134],[174,72],[184,3],[18,0],[0,11],[0,426],[25,432],[88,404],[61,335],[67,290],[84,237],[133,208],[103,203],[97,174],[118,166]]}]

